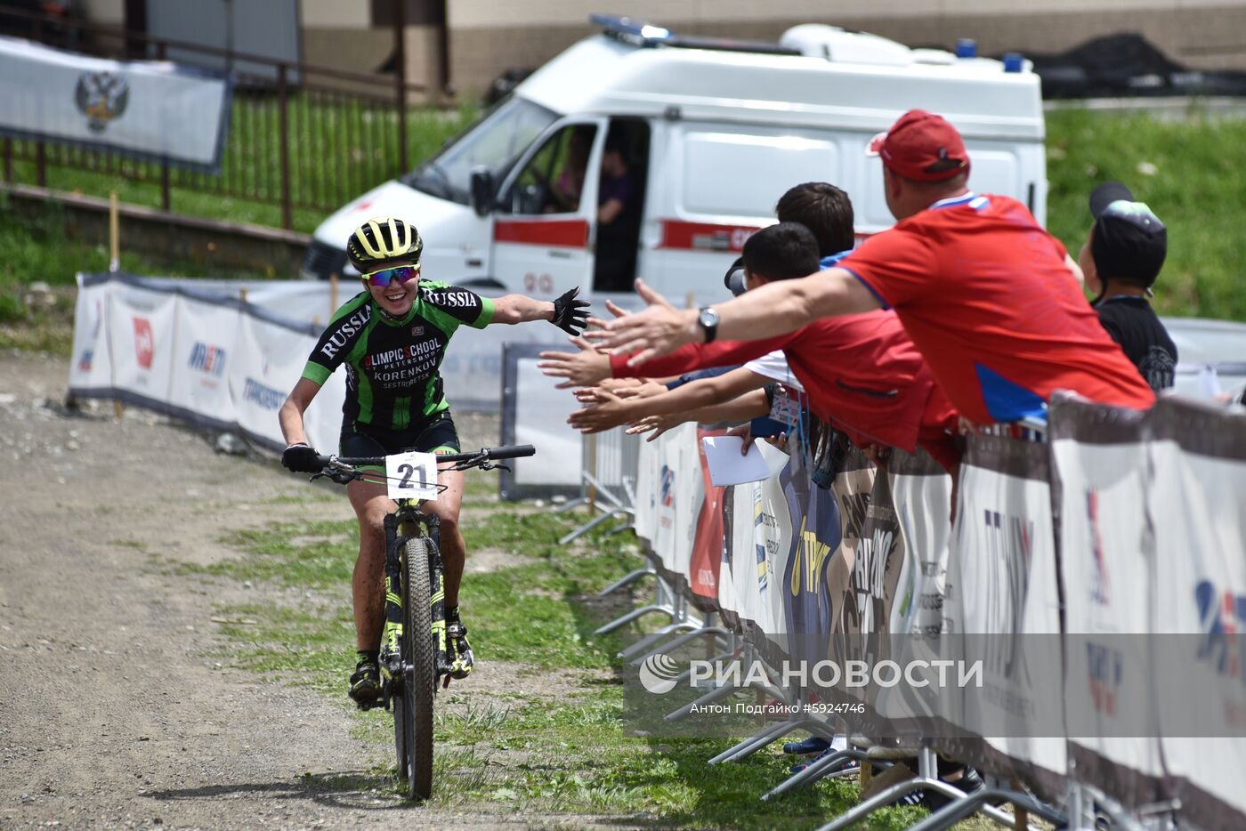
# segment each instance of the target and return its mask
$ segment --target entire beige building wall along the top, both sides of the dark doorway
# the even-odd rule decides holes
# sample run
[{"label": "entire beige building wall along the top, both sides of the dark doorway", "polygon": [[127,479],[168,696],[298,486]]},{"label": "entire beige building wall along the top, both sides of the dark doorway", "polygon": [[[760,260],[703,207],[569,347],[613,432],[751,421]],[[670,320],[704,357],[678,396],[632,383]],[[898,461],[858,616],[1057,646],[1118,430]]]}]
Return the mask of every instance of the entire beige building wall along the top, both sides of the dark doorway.
[{"label": "entire beige building wall along the top, both sides of the dark doorway", "polygon": [[[373,72],[392,52],[385,20],[391,0],[299,0],[303,60]],[[437,27],[431,0],[406,0],[407,77],[437,77]],[[1115,32],[1139,32],[1195,69],[1246,70],[1246,0],[454,0],[450,82],[461,97],[486,88],[503,70],[536,67],[597,31],[598,9],[697,35],[774,41],[800,22],[871,31],[911,46],[951,47],[974,37],[983,54],[1057,52]],[[125,0],[82,0],[87,19],[120,24]],[[435,16],[435,15],[434,15]]]}]

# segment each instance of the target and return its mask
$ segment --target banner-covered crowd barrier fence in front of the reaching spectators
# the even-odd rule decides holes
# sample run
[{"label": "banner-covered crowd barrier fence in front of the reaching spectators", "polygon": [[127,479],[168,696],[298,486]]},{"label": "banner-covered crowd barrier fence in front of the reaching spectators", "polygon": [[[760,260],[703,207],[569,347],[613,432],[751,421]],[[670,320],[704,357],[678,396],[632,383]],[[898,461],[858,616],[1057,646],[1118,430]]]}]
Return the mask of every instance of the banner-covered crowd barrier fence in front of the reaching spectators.
[{"label": "banner-covered crowd barrier fence in front of the reaching spectators", "polygon": [[[954,525],[951,478],[925,455],[896,453],[881,471],[847,452],[821,490],[797,450],[776,476],[720,488],[699,451],[705,431],[684,425],[642,444],[634,528],[659,579],[648,608],[684,620],[685,640],[706,627],[720,658],[765,672],[751,684],[698,686],[697,662],[677,674],[673,657],[687,653],[650,637],[625,650],[639,667],[628,718],[648,730],[713,730],[713,713],[670,708],[758,686],[771,709],[799,715],[711,761],[800,729],[903,736],[922,754],[927,779],[826,827],[905,789],[947,789],[933,781],[933,750],[1002,784],[993,795],[1074,827],[1093,827],[1091,810],[1125,826],[1158,815],[1184,827],[1246,825],[1246,639],[1236,635],[1246,624],[1246,415],[1176,396],[1148,414],[1058,400],[1049,442],[999,432],[969,437]],[[984,691],[901,685],[812,721],[810,701],[851,696],[785,683],[778,669],[977,654]],[[842,772],[854,753],[766,797]],[[957,801],[923,829],[993,811],[948,795]]]}]

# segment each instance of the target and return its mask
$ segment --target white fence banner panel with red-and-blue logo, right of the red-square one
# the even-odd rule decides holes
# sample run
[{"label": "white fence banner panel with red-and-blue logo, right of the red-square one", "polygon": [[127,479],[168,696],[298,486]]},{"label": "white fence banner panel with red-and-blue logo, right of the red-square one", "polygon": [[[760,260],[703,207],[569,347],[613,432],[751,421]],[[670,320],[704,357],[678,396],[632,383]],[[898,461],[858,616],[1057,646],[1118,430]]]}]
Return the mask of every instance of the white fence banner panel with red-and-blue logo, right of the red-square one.
[{"label": "white fence banner panel with red-and-blue logo, right of the red-square one", "polygon": [[208,422],[229,427],[235,412],[228,365],[235,351],[238,309],[189,297],[178,297],[176,308],[177,339],[168,400]]}]

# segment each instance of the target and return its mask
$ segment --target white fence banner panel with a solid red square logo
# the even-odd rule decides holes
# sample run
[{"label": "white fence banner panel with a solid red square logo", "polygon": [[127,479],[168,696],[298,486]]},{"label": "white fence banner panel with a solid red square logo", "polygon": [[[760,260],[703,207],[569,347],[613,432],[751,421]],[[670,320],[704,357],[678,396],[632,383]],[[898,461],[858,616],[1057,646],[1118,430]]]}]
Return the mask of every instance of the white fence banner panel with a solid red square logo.
[{"label": "white fence banner panel with a solid red square logo", "polygon": [[173,371],[177,297],[117,283],[105,304],[112,387],[164,409]]}]

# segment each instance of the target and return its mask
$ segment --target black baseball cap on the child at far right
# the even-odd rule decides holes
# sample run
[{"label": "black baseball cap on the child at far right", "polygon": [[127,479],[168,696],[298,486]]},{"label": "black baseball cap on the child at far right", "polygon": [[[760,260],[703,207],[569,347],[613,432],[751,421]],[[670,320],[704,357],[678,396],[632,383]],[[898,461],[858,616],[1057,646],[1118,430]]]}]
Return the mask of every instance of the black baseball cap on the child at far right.
[{"label": "black baseball cap on the child at far right", "polygon": [[1168,228],[1120,182],[1104,182],[1090,193],[1090,255],[1100,278],[1149,289],[1164,268]]}]

